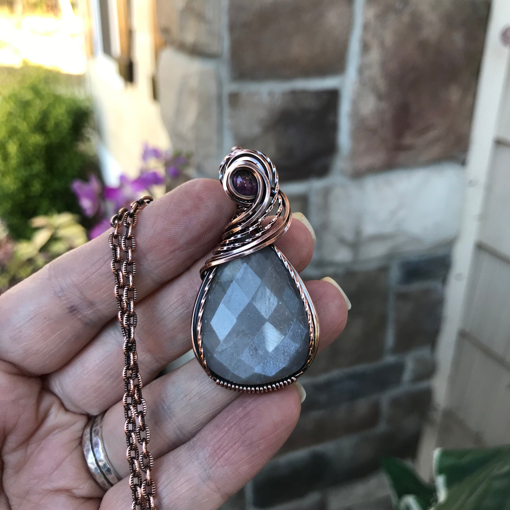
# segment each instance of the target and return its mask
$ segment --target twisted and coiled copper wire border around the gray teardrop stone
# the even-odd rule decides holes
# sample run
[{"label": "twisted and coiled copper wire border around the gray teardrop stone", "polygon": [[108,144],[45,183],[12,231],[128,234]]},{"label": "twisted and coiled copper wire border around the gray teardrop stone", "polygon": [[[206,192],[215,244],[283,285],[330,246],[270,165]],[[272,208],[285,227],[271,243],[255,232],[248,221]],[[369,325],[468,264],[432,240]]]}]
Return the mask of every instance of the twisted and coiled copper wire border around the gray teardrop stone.
[{"label": "twisted and coiled copper wire border around the gray teardrop stone", "polygon": [[313,359],[315,358],[315,354],[317,352],[317,348],[319,345],[319,335],[320,335],[320,327],[319,327],[319,321],[317,319],[317,312],[315,310],[315,306],[313,304],[313,301],[310,297],[310,294],[308,293],[308,289],[304,285],[301,277],[299,276],[298,272],[294,269],[292,264],[287,260],[285,255],[274,245],[271,245],[271,247],[276,252],[279,259],[284,263],[284,266],[289,271],[289,274],[291,275],[297,289],[299,290],[299,296],[301,297],[301,301],[304,305],[304,310],[307,314],[308,319],[308,325],[309,325],[309,334],[310,334],[310,349],[308,353],[307,361],[304,363],[304,365],[293,374],[289,375],[288,377],[284,379],[277,379],[271,382],[268,382],[266,384],[261,385],[244,385],[239,384],[237,382],[233,382],[227,379],[223,379],[221,377],[218,377],[217,374],[215,374],[212,370],[209,369],[207,366],[207,360],[205,358],[205,355],[203,353],[203,346],[202,346],[202,334],[201,334],[201,328],[202,328],[202,315],[203,315],[203,309],[206,304],[207,300],[207,292],[211,286],[211,282],[213,280],[214,274],[216,272],[216,268],[212,268],[211,270],[207,271],[202,286],[200,287],[200,290],[198,292],[198,296],[196,298],[195,302],[195,308],[194,308],[194,314],[193,314],[193,320],[191,325],[191,334],[193,338],[193,351],[195,353],[196,359],[198,362],[202,365],[203,369],[206,371],[207,375],[213,379],[218,386],[221,386],[222,388],[226,388],[228,390],[234,390],[244,393],[267,393],[269,391],[276,391],[280,390],[282,388],[285,388],[286,386],[291,385],[293,382],[296,382],[297,378],[302,375],[310,366]]}]

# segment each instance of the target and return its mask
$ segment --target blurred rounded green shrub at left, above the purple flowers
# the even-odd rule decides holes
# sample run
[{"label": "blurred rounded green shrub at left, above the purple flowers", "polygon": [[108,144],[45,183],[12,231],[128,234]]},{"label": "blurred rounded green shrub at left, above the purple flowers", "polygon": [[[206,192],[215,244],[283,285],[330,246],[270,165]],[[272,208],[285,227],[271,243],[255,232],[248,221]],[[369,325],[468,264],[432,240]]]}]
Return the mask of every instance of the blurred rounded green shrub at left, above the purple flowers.
[{"label": "blurred rounded green shrub at left, above the purple flowers", "polygon": [[0,97],[0,218],[15,239],[30,237],[34,216],[80,212],[70,184],[92,161],[89,101],[59,90],[51,73],[20,77]]}]

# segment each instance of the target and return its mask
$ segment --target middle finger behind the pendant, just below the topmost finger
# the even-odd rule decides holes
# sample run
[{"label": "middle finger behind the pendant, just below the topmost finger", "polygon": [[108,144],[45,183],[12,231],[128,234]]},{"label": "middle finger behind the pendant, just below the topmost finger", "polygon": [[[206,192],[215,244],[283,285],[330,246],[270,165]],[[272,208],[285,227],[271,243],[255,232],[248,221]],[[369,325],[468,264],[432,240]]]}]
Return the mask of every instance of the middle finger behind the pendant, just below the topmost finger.
[{"label": "middle finger behind the pendant, just below the topmost finger", "polygon": [[[300,221],[293,221],[276,244],[297,271],[310,262],[313,240]],[[165,365],[191,348],[190,318],[204,261],[198,261],[136,306],[138,364],[145,385]],[[99,414],[120,400],[124,392],[120,377],[122,344],[120,326],[114,319],[69,363],[50,374],[47,385],[69,411]]]}]

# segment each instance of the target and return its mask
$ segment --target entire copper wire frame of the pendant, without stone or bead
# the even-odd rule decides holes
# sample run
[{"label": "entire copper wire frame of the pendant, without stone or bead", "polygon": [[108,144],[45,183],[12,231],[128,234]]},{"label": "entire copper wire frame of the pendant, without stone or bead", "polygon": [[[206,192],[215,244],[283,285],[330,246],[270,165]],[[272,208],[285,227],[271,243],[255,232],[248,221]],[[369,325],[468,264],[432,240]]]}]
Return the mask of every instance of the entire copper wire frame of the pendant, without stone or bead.
[{"label": "entire copper wire frame of the pendant, without stone or bead", "polygon": [[[234,188],[233,178],[236,172],[241,169],[248,170],[255,176],[258,184],[255,195],[244,196]],[[320,326],[317,311],[308,289],[292,264],[276,246],[272,246],[272,249],[289,272],[307,315],[310,347],[304,365],[283,379],[277,379],[267,384],[246,385],[224,380],[215,374],[208,367],[203,352],[203,311],[217,266],[272,245],[287,232],[292,218],[289,200],[285,193],[279,190],[276,168],[262,152],[233,147],[230,154],[221,162],[219,174],[223,189],[228,197],[238,204],[238,208],[231,222],[225,227],[219,247],[213,251],[212,257],[200,269],[202,285],[198,291],[191,321],[193,351],[209,377],[223,388],[244,393],[266,393],[279,390],[295,382],[312,363],[319,345]],[[269,216],[271,212],[273,215]]]}]

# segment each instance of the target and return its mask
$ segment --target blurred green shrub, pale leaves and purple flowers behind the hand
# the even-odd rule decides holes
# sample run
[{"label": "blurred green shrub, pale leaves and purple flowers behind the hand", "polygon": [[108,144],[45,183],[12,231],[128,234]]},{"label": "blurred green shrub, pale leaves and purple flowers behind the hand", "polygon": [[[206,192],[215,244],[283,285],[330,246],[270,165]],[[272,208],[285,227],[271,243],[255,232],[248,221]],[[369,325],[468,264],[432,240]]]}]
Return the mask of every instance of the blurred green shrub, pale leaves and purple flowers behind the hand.
[{"label": "blurred green shrub, pale leaves and purple flowers behind the hand", "polygon": [[191,155],[141,147],[134,177],[105,186],[83,77],[26,64],[0,71],[0,293],[110,228],[120,207],[189,179]]}]

